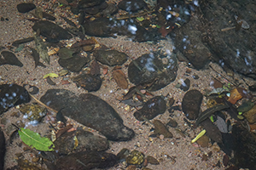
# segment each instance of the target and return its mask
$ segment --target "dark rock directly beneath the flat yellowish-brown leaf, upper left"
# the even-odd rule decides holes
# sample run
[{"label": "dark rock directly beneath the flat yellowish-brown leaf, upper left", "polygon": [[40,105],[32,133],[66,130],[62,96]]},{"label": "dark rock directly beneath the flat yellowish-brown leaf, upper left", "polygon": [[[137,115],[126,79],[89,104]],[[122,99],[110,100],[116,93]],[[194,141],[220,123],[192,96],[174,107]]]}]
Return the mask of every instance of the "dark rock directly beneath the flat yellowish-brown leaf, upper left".
[{"label": "dark rock directly beneath the flat yellowish-brown leaf, upper left", "polygon": [[79,54],[73,54],[73,58],[70,59],[59,59],[59,64],[66,68],[68,71],[79,72],[82,70],[84,65],[90,61],[89,58],[80,56]]}]

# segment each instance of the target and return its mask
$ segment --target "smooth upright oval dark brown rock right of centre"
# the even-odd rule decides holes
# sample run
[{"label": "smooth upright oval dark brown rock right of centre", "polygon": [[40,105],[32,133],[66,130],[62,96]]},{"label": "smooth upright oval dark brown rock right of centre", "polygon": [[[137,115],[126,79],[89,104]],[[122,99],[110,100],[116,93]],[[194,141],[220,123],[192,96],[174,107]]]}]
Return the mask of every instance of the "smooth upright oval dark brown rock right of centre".
[{"label": "smooth upright oval dark brown rock right of centre", "polygon": [[195,120],[200,111],[203,95],[198,90],[189,90],[183,97],[182,108],[189,120]]}]

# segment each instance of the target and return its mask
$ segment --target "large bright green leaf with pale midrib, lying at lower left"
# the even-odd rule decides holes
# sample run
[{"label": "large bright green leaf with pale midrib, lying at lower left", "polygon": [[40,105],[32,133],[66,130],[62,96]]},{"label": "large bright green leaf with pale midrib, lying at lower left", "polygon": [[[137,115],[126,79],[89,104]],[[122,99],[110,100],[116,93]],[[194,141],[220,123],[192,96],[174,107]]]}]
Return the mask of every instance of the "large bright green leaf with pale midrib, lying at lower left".
[{"label": "large bright green leaf with pale midrib, lying at lower left", "polygon": [[28,128],[22,128],[19,129],[20,139],[27,144],[28,146],[31,146],[32,148],[35,148],[36,150],[42,150],[42,151],[53,151],[55,144],[52,143],[48,138],[42,138],[40,134],[35,133],[31,131]]}]

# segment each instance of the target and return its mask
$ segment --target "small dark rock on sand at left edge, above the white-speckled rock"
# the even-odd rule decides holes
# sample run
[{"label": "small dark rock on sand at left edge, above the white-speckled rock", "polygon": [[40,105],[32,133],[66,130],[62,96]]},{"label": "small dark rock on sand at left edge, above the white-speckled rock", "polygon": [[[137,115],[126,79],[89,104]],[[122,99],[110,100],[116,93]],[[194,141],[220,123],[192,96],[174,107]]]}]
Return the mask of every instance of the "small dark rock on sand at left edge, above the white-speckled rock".
[{"label": "small dark rock on sand at left edge, above the white-speckled rock", "polygon": [[12,52],[2,51],[1,55],[3,56],[3,59],[1,59],[0,56],[0,65],[17,65],[20,67],[23,66],[20,60]]}]

